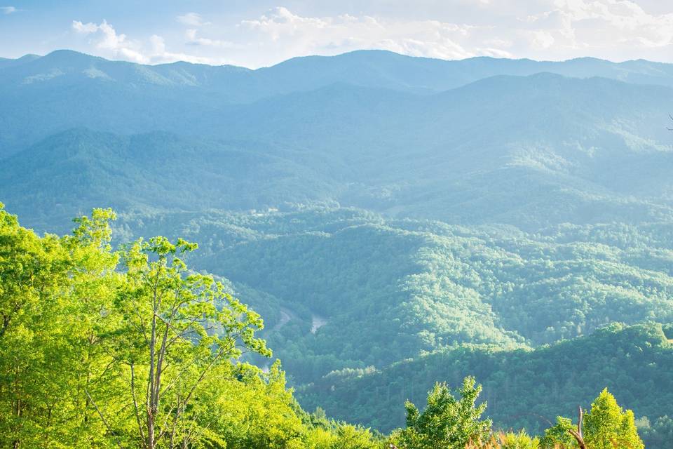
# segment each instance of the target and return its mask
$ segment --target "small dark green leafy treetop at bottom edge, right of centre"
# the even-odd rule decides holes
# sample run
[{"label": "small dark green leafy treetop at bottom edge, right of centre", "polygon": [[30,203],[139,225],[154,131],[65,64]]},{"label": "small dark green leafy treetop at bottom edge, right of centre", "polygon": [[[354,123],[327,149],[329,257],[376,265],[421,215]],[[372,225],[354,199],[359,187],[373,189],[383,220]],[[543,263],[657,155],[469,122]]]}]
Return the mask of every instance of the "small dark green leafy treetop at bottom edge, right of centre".
[{"label": "small dark green leafy treetop at bottom edge, right of centre", "polygon": [[491,421],[481,419],[486,403],[475,406],[481,391],[473,377],[465,377],[456,400],[447,384],[435,384],[422,413],[407,401],[407,427],[393,441],[409,449],[463,449],[470,441],[480,441],[491,431]]}]

